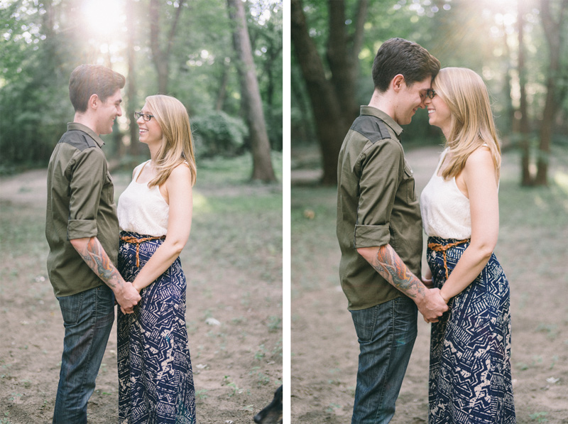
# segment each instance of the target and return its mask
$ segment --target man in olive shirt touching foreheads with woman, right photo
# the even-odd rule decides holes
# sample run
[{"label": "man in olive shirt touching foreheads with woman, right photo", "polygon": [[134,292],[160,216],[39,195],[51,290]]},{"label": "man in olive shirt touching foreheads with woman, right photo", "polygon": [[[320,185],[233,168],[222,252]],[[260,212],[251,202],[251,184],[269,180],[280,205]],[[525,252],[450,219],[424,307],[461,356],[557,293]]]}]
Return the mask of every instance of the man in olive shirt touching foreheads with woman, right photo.
[{"label": "man in olive shirt touching foreheads with woman, right photo", "polygon": [[339,153],[339,276],[359,337],[351,423],[388,423],[417,333],[447,310],[420,278],[422,221],[400,125],[424,108],[439,61],[416,43],[387,40],[373,63],[375,90]]}]

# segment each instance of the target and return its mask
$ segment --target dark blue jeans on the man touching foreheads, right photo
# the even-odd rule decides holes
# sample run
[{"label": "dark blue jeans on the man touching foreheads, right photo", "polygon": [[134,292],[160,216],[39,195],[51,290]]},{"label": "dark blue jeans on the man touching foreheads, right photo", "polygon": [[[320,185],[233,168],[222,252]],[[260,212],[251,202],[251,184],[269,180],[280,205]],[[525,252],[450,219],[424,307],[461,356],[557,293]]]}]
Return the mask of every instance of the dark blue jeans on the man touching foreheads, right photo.
[{"label": "dark blue jeans on the man touching foreheads, right photo", "polygon": [[410,298],[396,298],[351,310],[351,317],[360,349],[351,423],[388,423],[416,339],[416,305]]}]

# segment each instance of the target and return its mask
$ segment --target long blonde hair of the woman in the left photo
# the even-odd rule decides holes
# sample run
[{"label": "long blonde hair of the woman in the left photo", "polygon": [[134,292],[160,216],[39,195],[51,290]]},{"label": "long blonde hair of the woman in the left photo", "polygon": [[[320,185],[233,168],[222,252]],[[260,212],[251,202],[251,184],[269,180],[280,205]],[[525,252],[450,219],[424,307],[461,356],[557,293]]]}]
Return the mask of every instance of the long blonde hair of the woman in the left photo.
[{"label": "long blonde hair of the woman in the left photo", "polygon": [[162,185],[173,168],[185,163],[190,167],[192,185],[197,178],[197,167],[193,153],[190,116],[185,106],[175,97],[157,94],[146,97],[146,104],[162,130],[162,144],[154,158],[156,175],[148,187]]}]

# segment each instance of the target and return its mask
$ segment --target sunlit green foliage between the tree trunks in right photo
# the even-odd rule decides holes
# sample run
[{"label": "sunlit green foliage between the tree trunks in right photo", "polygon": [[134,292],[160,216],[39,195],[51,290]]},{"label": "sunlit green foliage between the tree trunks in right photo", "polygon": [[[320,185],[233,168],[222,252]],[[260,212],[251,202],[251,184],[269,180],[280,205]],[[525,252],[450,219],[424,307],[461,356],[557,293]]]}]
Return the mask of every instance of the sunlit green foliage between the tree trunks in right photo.
[{"label": "sunlit green foliage between the tree trunks in right photo", "polygon": [[[356,11],[361,0],[344,0],[347,33],[356,22]],[[549,48],[542,27],[542,1],[550,3],[556,19],[565,0],[390,0],[370,1],[364,40],[359,51],[359,77],[356,97],[359,104],[368,104],[373,92],[371,67],[376,51],[392,37],[413,40],[435,55],[442,67],[469,67],[478,72],[488,85],[493,100],[496,124],[504,146],[516,146],[515,116],[519,108],[519,77],[517,68],[517,4],[525,6],[525,67],[528,97],[528,121],[533,145],[538,140],[545,106],[547,75],[550,67]],[[329,4],[318,0],[302,0],[302,11],[309,26],[310,38],[317,45],[326,72],[332,72],[327,60],[327,43],[332,27],[329,23]],[[555,14],[554,14],[555,13]],[[560,31],[568,33],[568,16],[559,24]],[[564,37],[565,38],[565,37]],[[294,50],[294,48],[293,48]],[[568,81],[568,43],[559,47],[559,58],[564,64],[556,75],[559,104],[555,116],[553,142],[567,143],[568,98],[562,87]],[[300,65],[292,58],[293,146],[297,143],[315,143],[313,121],[307,87],[302,79]],[[564,136],[562,136],[564,134]],[[427,124],[427,114],[415,114],[412,124],[405,126],[404,143],[439,143],[441,134]]]}]

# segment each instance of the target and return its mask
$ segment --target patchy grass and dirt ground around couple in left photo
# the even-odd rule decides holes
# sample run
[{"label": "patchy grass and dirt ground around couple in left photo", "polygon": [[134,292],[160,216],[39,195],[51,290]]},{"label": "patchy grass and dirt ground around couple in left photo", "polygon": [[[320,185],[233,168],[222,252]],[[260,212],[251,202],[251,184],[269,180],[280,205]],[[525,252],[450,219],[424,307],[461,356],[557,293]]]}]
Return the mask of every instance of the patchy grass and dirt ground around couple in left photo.
[{"label": "patchy grass and dirt ground around couple in left photo", "polygon": [[[281,179],[282,160],[274,166]],[[198,163],[187,330],[200,423],[250,423],[282,380],[282,190],[251,184],[248,157]],[[45,170],[0,179],[0,423],[50,423],[63,325],[47,278]],[[116,197],[130,173],[113,175]],[[219,325],[208,325],[214,318]],[[89,423],[115,423],[116,327]]]}]

